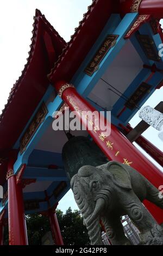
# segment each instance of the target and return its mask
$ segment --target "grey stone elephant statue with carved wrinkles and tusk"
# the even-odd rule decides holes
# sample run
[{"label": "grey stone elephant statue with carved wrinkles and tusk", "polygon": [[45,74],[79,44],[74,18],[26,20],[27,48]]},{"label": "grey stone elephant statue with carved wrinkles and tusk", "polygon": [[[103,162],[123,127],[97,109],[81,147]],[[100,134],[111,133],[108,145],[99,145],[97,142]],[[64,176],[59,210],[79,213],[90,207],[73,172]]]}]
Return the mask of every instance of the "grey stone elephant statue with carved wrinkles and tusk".
[{"label": "grey stone elephant statue with carved wrinkles and tusk", "polygon": [[71,179],[74,198],[84,218],[92,245],[102,245],[101,220],[112,245],[129,245],[120,217],[128,215],[141,232],[145,245],[163,245],[163,232],[141,203],[149,200],[163,209],[163,199],[135,169],[110,161],[83,166]]}]

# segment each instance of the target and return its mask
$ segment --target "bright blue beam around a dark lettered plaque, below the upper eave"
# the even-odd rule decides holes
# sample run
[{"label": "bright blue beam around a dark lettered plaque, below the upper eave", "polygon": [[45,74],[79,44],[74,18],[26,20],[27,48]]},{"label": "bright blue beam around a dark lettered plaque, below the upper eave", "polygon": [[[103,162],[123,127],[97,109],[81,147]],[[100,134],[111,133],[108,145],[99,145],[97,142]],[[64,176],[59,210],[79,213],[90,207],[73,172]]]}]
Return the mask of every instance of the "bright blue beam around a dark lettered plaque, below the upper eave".
[{"label": "bright blue beam around a dark lettered plaque, below the upper eave", "polygon": [[[106,29],[103,33],[102,38],[99,38],[99,42],[103,41],[105,36],[107,34],[115,34],[119,35],[116,41],[116,45],[110,49],[110,51],[106,54],[102,62],[99,64],[99,69],[92,75],[89,76],[85,74],[83,71],[86,68],[87,64],[90,62],[91,57],[96,53],[98,47],[100,44],[98,44],[98,47],[93,47],[92,51],[90,52],[89,56],[86,57],[85,62],[82,64],[80,69],[78,70],[78,73],[74,76],[72,82],[76,86],[78,92],[82,94],[83,96],[89,95],[93,87],[98,82],[99,78],[102,77],[106,69],[108,69],[109,65],[112,63],[114,58],[117,56],[117,54],[121,51],[124,44],[126,44],[126,40],[124,40],[124,35],[127,33],[130,26],[134,23],[137,17],[137,13],[130,13],[126,14],[126,16],[123,17],[123,19],[120,22],[120,18],[118,15],[111,15],[110,20],[108,21],[108,29]],[[110,32],[109,24],[111,25],[111,22],[117,22],[118,19],[118,26],[114,30],[114,32]],[[76,78],[78,77],[78,78]]]}]

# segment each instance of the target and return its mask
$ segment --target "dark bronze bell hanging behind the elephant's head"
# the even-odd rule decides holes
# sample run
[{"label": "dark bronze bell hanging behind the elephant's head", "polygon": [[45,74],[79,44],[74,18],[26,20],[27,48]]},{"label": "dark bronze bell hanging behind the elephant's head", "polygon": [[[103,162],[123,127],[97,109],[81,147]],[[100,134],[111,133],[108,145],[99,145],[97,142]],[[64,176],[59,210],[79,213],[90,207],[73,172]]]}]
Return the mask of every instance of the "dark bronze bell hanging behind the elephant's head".
[{"label": "dark bronze bell hanging behind the elephant's head", "polygon": [[90,141],[89,138],[68,136],[68,139],[62,149],[62,160],[70,179],[82,166],[100,166],[109,161],[95,142]]}]

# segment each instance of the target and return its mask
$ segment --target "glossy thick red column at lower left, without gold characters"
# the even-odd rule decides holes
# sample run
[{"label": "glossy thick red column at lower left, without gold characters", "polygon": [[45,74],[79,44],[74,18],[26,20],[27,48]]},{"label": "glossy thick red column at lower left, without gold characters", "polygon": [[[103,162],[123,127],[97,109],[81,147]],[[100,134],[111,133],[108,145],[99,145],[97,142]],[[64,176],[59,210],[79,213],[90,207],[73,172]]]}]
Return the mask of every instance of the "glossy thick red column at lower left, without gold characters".
[{"label": "glossy thick red column at lower left, without gold characters", "polygon": [[8,218],[9,245],[28,245],[22,185],[17,184],[13,166],[15,159],[11,155],[8,163]]}]

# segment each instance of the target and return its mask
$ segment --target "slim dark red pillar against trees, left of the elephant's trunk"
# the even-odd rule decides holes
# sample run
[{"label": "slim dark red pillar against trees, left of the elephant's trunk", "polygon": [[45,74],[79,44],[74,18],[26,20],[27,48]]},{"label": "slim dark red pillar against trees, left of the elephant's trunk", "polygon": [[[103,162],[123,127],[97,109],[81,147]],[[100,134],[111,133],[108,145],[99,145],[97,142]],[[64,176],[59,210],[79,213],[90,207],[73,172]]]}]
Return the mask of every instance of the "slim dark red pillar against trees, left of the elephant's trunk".
[{"label": "slim dark red pillar against trees, left of the elephant's trunk", "polygon": [[64,245],[55,210],[49,209],[48,216],[51,224],[51,231],[55,245]]}]

